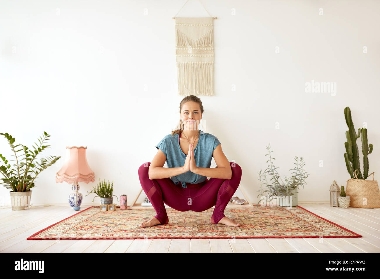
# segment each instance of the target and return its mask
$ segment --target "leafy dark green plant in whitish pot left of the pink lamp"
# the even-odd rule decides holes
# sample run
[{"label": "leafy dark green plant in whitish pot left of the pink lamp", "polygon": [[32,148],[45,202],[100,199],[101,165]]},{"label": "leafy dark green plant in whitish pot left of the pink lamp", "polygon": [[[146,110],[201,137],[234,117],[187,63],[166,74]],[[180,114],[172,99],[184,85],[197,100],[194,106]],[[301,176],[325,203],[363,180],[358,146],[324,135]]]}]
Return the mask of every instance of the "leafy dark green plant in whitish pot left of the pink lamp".
[{"label": "leafy dark green plant in whitish pot left of the pink lamp", "polygon": [[[0,184],[7,189],[12,189],[12,191],[10,191],[12,210],[29,209],[32,196],[32,190],[30,189],[35,187],[34,180],[44,169],[57,162],[61,157],[48,156],[46,159],[41,158],[41,162],[36,160],[38,154],[50,147],[50,145],[44,145],[44,142],[49,140],[50,137],[46,132],[44,132],[43,138],[40,137],[41,140],[38,139],[40,145],[37,143],[35,143],[36,146],[33,145],[34,150],[30,150],[22,144],[13,145],[16,139],[8,133],[0,133],[0,135],[3,135],[8,140],[11,151],[14,153],[12,156],[16,157],[16,160],[11,161],[17,163],[11,167],[11,165],[8,164],[8,160],[0,154],[0,158],[5,163],[5,166],[0,166],[0,175],[5,177],[0,178],[3,180]],[[21,154],[19,152],[21,152]]]}]

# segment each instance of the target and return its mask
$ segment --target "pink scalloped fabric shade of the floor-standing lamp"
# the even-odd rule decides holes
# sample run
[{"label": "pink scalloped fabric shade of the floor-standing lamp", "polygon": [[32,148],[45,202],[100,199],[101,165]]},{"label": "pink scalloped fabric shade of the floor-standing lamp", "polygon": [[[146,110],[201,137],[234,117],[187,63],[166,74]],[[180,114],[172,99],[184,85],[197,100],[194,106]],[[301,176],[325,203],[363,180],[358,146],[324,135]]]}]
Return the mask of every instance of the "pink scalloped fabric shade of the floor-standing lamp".
[{"label": "pink scalloped fabric shade of the floor-standing lamp", "polygon": [[95,181],[94,172],[90,169],[86,158],[87,147],[66,147],[66,161],[57,175],[55,175],[55,182],[67,183],[74,182],[89,182]]}]

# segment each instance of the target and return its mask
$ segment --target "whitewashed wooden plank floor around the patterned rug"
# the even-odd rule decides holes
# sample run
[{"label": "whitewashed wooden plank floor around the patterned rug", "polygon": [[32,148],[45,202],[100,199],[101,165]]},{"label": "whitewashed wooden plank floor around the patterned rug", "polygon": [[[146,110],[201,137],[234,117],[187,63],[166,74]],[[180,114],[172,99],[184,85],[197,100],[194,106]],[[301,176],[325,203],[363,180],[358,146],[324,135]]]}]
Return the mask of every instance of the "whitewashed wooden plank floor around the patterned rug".
[{"label": "whitewashed wooden plank floor around the patterned rug", "polygon": [[[30,210],[0,209],[1,253],[378,253],[380,209],[337,208],[329,204],[299,206],[359,235],[360,238],[248,238],[137,240],[26,240],[76,212],[68,206],[35,206]],[[85,206],[82,209],[87,208]]]}]

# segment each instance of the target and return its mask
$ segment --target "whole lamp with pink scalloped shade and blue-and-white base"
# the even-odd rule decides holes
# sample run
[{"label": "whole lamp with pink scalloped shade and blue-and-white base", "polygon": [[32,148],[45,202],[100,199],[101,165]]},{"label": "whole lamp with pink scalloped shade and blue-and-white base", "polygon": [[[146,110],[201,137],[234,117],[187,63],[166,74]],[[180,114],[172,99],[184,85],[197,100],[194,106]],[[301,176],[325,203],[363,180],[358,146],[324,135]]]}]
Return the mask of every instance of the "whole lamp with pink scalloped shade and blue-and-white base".
[{"label": "whole lamp with pink scalloped shade and blue-and-white base", "polygon": [[56,183],[62,183],[63,181],[73,183],[73,186],[71,186],[73,192],[69,195],[69,203],[74,210],[81,209],[80,205],[83,197],[83,195],[78,192],[78,182],[86,182],[88,184],[90,181],[95,181],[94,172],[87,163],[86,149],[87,147],[82,146],[66,147],[66,161],[60,171],[55,175]]}]

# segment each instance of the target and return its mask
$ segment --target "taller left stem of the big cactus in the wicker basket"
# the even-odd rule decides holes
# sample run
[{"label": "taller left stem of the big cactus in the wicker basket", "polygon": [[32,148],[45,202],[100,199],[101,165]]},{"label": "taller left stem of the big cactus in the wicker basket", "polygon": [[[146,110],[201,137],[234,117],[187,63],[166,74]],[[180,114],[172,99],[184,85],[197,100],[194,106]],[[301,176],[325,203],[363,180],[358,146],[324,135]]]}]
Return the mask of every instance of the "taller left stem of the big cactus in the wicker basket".
[{"label": "taller left stem of the big cactus in the wicker basket", "polygon": [[[355,170],[359,170],[359,174],[357,177],[358,179],[363,179],[360,172],[359,148],[358,148],[358,145],[356,144],[356,139],[360,137],[360,128],[358,129],[358,134],[356,134],[354,124],[351,118],[351,110],[349,107],[345,107],[344,117],[346,119],[346,123],[348,126],[348,131],[346,131],[347,142],[344,143],[344,146],[347,152],[347,153],[344,153],[344,159],[346,161],[347,171],[350,173],[351,178],[353,178],[354,177],[353,173],[355,172]],[[364,154],[364,151],[363,151],[363,154]],[[367,175],[368,175],[368,171],[367,171]]]}]

